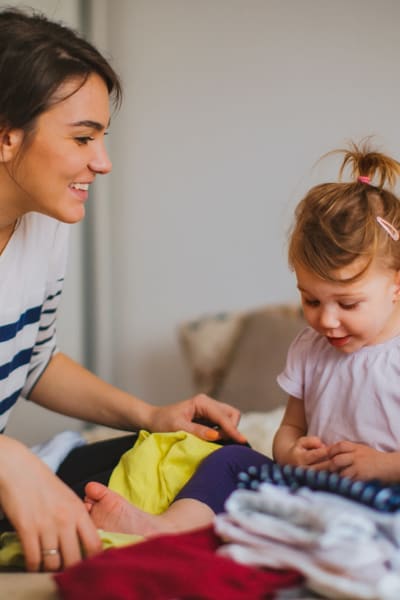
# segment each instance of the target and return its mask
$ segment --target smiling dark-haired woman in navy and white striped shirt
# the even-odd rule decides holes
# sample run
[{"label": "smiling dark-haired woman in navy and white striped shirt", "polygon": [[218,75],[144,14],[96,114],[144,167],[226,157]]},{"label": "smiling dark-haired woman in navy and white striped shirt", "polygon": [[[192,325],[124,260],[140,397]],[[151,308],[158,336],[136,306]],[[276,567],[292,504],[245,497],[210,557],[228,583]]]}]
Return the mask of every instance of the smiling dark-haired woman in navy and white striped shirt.
[{"label": "smiling dark-haired woman in navy and white striped shirt", "polygon": [[[55,340],[68,224],[85,214],[90,184],[111,170],[104,146],[109,100],[121,99],[108,62],[70,29],[18,10],[0,12],[0,432],[19,396],[111,427],[213,429],[243,441],[239,412],[204,395],[155,407],[105,383],[58,352]],[[105,450],[75,450],[58,475],[23,444],[0,435],[0,507],[29,571],[69,566],[101,549],[71,487],[106,481],[134,436]],[[66,485],[67,484],[67,485]],[[82,492],[83,493],[83,492]]]}]

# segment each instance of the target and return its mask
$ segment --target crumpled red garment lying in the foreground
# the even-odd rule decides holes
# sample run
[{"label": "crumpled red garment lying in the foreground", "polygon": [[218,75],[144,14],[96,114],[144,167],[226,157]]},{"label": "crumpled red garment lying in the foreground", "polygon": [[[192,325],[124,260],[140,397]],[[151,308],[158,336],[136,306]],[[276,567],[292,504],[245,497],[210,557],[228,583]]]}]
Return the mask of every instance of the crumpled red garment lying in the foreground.
[{"label": "crumpled red garment lying in the foreground", "polygon": [[303,581],[292,570],[241,565],[215,553],[213,529],[112,548],[54,575],[63,600],[265,600]]}]

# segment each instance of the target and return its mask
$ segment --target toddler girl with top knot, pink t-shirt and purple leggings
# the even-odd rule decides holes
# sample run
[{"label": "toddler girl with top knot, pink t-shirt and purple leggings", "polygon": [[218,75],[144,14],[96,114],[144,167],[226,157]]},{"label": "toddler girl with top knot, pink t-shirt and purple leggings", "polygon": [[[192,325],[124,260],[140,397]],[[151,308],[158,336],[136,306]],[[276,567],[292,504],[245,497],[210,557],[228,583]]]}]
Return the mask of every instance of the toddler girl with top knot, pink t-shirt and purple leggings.
[{"label": "toddler girl with top knot, pink t-shirt and purple leggings", "polygon": [[[278,377],[289,394],[273,445],[280,464],[353,479],[400,480],[400,164],[368,145],[344,153],[349,183],[313,187],[296,210],[289,263],[309,327]],[[238,474],[267,459],[227,446],[207,457],[160,516],[90,483],[98,527],[151,535],[206,525]]]}]

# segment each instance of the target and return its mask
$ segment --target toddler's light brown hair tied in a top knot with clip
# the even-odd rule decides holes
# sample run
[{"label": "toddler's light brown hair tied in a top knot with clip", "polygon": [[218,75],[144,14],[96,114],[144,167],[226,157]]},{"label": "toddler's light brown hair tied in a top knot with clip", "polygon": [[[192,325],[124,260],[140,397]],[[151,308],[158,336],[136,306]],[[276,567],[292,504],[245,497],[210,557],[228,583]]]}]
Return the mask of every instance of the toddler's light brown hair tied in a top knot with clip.
[{"label": "toddler's light brown hair tied in a top knot with clip", "polygon": [[[298,204],[289,240],[291,268],[302,266],[334,282],[342,281],[337,269],[359,257],[366,259],[364,268],[346,281],[361,277],[375,259],[399,270],[400,200],[393,189],[400,163],[369,140],[324,157],[331,154],[343,155],[339,181],[314,186]],[[350,182],[341,181],[346,170]]]}]

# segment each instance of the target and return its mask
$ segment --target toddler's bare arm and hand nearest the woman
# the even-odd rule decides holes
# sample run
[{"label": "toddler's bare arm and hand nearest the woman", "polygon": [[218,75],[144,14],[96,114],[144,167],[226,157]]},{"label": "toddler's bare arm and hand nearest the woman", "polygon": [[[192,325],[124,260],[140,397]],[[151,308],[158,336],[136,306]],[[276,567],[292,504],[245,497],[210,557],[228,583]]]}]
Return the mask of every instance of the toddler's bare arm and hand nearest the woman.
[{"label": "toddler's bare arm and hand nearest the woman", "polygon": [[280,464],[328,468],[327,450],[317,436],[307,436],[304,402],[290,396],[273,441],[273,456]]}]

